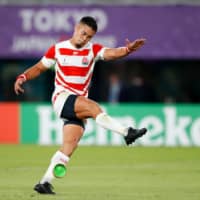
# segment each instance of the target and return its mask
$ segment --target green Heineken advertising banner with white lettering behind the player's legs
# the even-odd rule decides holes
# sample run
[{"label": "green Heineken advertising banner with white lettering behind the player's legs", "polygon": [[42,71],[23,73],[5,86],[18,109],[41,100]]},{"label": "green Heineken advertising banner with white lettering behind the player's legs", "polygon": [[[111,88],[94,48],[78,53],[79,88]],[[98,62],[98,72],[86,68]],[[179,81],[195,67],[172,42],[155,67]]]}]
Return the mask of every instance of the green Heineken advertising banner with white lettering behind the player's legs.
[{"label": "green Heineken advertising banner with white lettering behind the player's legs", "polygon": [[[126,126],[147,127],[135,145],[200,146],[200,105],[119,104],[102,108]],[[61,144],[62,120],[50,104],[22,104],[21,143]],[[80,145],[124,145],[122,136],[87,121]]]}]

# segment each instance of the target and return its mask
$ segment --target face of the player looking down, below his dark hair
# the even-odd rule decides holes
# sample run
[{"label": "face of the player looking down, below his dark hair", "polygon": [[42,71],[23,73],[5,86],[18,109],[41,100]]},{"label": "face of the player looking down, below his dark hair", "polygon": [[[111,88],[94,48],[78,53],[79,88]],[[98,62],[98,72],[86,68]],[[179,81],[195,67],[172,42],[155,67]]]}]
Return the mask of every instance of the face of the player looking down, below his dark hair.
[{"label": "face of the player looking down, below his dark hair", "polygon": [[87,26],[86,24],[78,24],[75,27],[74,35],[73,35],[73,41],[75,43],[75,46],[78,48],[83,47],[85,44],[87,44],[92,37],[95,35],[95,31]]}]

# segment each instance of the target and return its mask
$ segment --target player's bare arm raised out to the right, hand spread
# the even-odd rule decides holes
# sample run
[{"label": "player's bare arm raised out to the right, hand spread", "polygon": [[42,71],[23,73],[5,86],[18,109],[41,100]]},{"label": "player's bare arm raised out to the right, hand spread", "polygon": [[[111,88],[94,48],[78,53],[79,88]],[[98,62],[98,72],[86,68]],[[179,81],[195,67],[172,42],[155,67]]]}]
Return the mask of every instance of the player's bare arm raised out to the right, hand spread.
[{"label": "player's bare arm raised out to the right, hand spread", "polygon": [[118,48],[108,48],[104,52],[105,60],[115,60],[118,58],[125,57],[134,51],[137,51],[145,44],[145,38],[139,38],[134,41],[129,41],[126,39],[126,45],[124,47]]}]

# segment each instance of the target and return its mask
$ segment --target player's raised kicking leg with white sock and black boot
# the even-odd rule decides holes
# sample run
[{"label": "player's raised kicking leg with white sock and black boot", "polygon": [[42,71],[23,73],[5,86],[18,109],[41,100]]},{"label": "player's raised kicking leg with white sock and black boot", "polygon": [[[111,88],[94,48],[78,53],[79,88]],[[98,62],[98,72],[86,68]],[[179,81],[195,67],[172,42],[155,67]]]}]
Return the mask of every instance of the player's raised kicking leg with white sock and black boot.
[{"label": "player's raised kicking leg with white sock and black boot", "polygon": [[121,134],[124,136],[127,145],[133,143],[147,131],[146,128],[134,129],[132,127],[124,127],[107,113],[103,112],[98,103],[83,96],[78,96],[76,99],[75,113],[80,119],[92,117],[100,126]]}]

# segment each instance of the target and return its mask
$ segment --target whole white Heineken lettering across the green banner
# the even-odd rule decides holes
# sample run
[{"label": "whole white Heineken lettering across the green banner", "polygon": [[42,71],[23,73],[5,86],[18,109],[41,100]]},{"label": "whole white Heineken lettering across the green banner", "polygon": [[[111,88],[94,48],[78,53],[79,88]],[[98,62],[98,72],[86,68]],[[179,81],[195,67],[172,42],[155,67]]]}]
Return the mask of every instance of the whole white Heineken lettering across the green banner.
[{"label": "whole white Heineken lettering across the green banner", "polygon": [[[131,115],[115,116],[125,126],[147,127],[149,131],[137,140],[135,145],[143,146],[200,146],[200,118],[192,121],[189,115],[178,115],[176,107],[166,106],[160,109],[159,116],[146,115],[137,122]],[[57,118],[51,106],[38,106],[39,144],[62,144],[62,120]],[[161,117],[163,119],[161,119]],[[122,145],[121,135],[98,126],[88,119],[80,145]]]}]

